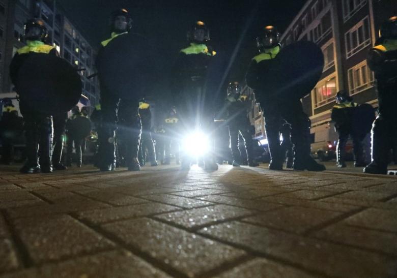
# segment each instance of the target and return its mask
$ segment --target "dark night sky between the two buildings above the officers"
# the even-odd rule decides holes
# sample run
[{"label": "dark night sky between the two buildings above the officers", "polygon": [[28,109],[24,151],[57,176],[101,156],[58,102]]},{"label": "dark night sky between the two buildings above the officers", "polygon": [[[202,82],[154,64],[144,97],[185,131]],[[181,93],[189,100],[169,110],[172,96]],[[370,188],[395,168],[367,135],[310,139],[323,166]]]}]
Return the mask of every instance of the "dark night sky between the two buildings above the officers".
[{"label": "dark night sky between the two buildings above the officers", "polygon": [[[306,0],[58,0],[67,16],[92,45],[109,37],[108,19],[118,8],[132,15],[133,32],[156,41],[166,71],[178,51],[187,46],[186,32],[197,20],[211,30],[210,45],[222,60],[219,87],[232,80],[243,81],[250,59],[256,55],[254,38],[268,24],[282,33]],[[240,47],[236,47],[239,45]],[[238,51],[235,52],[235,49]],[[235,59],[233,53],[235,52]],[[228,70],[229,69],[229,70]],[[223,82],[222,82],[223,81]]]}]

